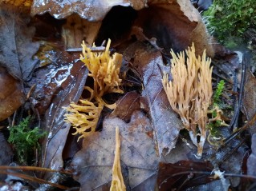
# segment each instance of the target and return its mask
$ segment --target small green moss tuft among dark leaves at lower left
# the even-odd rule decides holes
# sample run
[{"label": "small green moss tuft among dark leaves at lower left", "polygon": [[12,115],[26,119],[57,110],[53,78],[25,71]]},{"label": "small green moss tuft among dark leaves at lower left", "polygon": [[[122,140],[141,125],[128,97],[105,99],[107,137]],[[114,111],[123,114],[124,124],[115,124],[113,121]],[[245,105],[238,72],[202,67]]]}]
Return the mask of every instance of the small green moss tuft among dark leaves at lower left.
[{"label": "small green moss tuft among dark leaves at lower left", "polygon": [[38,127],[29,128],[30,117],[26,117],[18,125],[10,128],[8,141],[14,146],[14,153],[19,162],[27,164],[29,158],[34,158],[34,150],[39,149],[39,138],[46,133],[41,133]]}]

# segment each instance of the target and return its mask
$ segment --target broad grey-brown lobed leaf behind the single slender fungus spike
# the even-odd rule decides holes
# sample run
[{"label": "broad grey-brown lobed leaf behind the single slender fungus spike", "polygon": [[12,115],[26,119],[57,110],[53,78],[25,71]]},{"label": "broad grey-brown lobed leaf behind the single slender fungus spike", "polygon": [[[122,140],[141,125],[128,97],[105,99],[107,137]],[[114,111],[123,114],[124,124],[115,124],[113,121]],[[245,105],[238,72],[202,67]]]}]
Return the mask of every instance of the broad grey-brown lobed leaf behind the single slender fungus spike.
[{"label": "broad grey-brown lobed leaf behind the single slender fungus spike", "polygon": [[101,190],[112,181],[115,129],[120,128],[120,160],[126,188],[152,190],[156,184],[158,157],[152,145],[150,121],[135,111],[131,121],[106,117],[103,130],[83,139],[83,149],[75,154],[71,166],[81,190]]}]

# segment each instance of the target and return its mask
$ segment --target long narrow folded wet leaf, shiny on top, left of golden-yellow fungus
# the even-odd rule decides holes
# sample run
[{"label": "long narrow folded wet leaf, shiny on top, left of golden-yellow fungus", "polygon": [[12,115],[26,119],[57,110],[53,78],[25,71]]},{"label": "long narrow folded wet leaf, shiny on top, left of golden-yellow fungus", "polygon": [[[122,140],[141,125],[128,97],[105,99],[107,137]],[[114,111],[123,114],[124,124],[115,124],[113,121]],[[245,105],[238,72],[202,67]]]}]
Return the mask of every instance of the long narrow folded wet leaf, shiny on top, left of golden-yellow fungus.
[{"label": "long narrow folded wet leaf, shiny on top, left of golden-yellow fungus", "polygon": [[[87,70],[83,64],[75,63],[63,66],[63,71],[58,74],[56,71],[55,83],[58,88],[53,94],[51,105],[46,110],[42,126],[48,132],[43,142],[43,167],[51,169],[63,168],[63,148],[66,143],[70,124],[64,121],[64,114],[67,112],[64,107],[70,105],[71,101],[77,102],[83,92],[83,86],[87,79]],[[61,70],[59,70],[61,71]],[[61,82],[61,84],[58,84]]]}]

